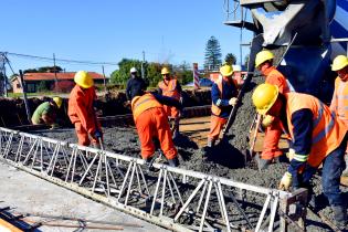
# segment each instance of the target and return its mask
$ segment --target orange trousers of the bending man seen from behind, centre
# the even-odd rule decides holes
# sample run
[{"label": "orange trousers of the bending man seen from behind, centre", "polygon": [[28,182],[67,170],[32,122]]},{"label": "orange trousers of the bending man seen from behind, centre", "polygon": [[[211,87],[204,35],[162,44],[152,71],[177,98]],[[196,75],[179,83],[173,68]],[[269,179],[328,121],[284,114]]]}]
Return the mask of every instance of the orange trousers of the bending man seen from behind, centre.
[{"label": "orange trousers of the bending man seen from behind, centre", "polygon": [[141,144],[143,159],[155,154],[152,138],[158,138],[160,148],[167,159],[177,157],[178,151],[172,143],[168,117],[164,108],[155,107],[143,112],[136,122],[137,131]]}]

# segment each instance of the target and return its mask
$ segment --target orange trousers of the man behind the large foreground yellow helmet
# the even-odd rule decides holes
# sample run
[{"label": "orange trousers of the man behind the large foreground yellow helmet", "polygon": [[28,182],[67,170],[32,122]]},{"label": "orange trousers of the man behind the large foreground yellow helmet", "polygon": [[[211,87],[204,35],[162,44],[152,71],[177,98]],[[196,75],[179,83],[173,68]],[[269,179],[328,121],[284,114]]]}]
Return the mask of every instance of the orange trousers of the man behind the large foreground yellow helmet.
[{"label": "orange trousers of the man behind the large foreground yellow helmet", "polygon": [[266,128],[265,138],[263,141],[262,159],[273,159],[282,156],[282,150],[278,148],[278,143],[282,136],[282,127],[278,118],[274,118],[271,126]]}]

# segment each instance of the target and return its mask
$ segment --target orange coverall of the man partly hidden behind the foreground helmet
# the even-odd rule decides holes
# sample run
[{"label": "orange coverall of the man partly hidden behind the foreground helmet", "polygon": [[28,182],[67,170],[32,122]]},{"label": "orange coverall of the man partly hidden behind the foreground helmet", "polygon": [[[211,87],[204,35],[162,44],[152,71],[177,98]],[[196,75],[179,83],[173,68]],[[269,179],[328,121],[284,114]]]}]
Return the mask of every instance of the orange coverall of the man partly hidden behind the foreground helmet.
[{"label": "orange coverall of the man partly hidden behind the foreground helmet", "polygon": [[[276,85],[281,94],[289,92],[286,78],[278,72],[275,66],[271,66],[264,71],[266,77],[265,83]],[[282,127],[278,118],[274,118],[271,126],[266,128],[265,138],[263,143],[263,151],[261,154],[262,159],[273,159],[280,157],[283,152],[278,148],[278,143],[282,136]]]}]

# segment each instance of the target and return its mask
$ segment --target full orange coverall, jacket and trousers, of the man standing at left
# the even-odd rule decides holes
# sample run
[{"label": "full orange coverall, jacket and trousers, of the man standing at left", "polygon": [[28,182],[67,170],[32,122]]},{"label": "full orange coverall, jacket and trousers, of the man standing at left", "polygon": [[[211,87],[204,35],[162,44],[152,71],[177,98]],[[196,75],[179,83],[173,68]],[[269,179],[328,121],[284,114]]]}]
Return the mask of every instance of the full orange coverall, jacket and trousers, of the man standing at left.
[{"label": "full orange coverall, jacket and trousers, of the man standing at left", "polygon": [[[94,133],[101,128],[93,108],[95,99],[94,87],[82,88],[75,85],[70,94],[67,115],[75,126],[78,145],[88,146],[91,140],[92,144],[98,144],[98,140],[94,138]],[[88,134],[92,135],[91,140]]]}]

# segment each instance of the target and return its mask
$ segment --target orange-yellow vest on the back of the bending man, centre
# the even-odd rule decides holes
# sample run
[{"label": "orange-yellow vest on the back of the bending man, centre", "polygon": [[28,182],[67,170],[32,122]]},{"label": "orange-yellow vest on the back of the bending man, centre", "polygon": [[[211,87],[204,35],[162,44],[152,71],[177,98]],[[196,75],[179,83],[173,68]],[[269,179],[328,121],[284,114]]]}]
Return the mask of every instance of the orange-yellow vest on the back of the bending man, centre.
[{"label": "orange-yellow vest on the back of the bending man, centre", "polygon": [[143,96],[134,97],[131,99],[134,120],[136,122],[143,112],[155,107],[162,107],[162,105],[155,98],[152,94],[144,94]]}]

